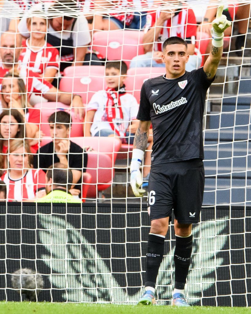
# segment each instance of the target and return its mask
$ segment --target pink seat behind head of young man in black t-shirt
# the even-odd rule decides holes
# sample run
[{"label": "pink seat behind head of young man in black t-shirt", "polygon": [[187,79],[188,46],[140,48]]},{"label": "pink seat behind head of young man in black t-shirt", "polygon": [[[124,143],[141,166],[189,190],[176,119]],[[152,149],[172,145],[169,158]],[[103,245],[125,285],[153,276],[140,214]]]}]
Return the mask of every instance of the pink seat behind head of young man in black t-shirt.
[{"label": "pink seat behind head of young man in black t-shirt", "polygon": [[[49,102],[47,104],[50,104]],[[59,104],[59,103],[58,103]],[[35,105],[35,108],[38,108],[40,104]],[[40,124],[40,130],[45,134],[45,136],[50,136],[50,125],[48,123],[48,118],[49,116],[54,113],[56,110],[69,110],[69,106],[67,107],[51,107],[51,108],[41,108],[44,110],[41,110],[41,124]],[[55,110],[56,109],[56,110]],[[74,109],[71,110],[71,117],[72,117],[72,125],[70,128],[70,137],[75,137],[75,136],[83,136],[83,118],[81,120],[75,118],[74,115]]]}]

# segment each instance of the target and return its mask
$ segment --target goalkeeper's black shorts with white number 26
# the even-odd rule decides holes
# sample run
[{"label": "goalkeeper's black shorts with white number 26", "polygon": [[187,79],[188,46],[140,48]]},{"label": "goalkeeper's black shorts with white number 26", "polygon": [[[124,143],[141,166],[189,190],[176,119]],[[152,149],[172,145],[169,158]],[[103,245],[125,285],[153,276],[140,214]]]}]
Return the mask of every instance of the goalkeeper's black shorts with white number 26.
[{"label": "goalkeeper's black shorts with white number 26", "polygon": [[179,223],[198,223],[204,184],[204,165],[199,158],[153,165],[147,198],[150,220],[171,217],[174,209]]}]

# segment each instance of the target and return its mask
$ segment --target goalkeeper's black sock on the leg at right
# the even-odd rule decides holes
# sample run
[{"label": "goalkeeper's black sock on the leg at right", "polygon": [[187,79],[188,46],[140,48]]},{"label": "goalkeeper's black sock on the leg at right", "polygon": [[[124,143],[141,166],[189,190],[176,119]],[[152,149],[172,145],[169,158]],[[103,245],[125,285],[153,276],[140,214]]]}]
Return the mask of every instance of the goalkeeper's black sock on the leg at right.
[{"label": "goalkeeper's black sock on the leg at right", "polygon": [[174,250],[175,284],[174,288],[184,289],[186,278],[190,266],[193,248],[193,236],[181,238],[176,236],[176,246]]}]

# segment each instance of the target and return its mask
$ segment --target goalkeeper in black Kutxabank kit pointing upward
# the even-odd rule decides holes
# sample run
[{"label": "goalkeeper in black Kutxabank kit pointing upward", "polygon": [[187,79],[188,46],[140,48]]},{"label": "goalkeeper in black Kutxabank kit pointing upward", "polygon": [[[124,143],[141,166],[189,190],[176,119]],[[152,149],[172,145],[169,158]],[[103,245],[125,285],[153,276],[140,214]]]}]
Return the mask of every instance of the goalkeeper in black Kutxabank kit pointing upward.
[{"label": "goalkeeper in black Kutxabank kit pointing upward", "polygon": [[223,32],[231,25],[223,6],[212,22],[212,46],[203,68],[185,71],[187,44],[179,37],[163,43],[166,74],[144,82],[141,89],[140,120],[131,161],[131,187],[143,196],[139,170],[152,122],[152,165],[147,207],[151,220],[146,252],[145,292],[138,304],[155,303],[155,284],[160,267],[169,219],[174,209],[176,246],[175,284],[172,304],[189,306],[184,287],[192,253],[192,224],[198,223],[204,192],[202,123],[206,92],[215,78],[222,57]]}]

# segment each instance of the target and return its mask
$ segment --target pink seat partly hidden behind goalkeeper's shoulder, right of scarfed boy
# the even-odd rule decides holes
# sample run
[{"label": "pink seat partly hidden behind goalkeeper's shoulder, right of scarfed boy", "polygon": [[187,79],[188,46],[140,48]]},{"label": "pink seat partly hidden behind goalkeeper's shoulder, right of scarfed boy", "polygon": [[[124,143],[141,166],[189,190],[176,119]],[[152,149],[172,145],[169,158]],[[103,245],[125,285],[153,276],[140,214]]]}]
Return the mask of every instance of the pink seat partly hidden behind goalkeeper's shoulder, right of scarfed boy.
[{"label": "pink seat partly hidden behind goalkeeper's shoulder, right of scarfed boy", "polygon": [[154,78],[165,73],[165,68],[131,68],[127,71],[127,78],[125,80],[126,90],[132,94],[139,103],[142,84],[148,78]]}]

